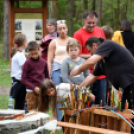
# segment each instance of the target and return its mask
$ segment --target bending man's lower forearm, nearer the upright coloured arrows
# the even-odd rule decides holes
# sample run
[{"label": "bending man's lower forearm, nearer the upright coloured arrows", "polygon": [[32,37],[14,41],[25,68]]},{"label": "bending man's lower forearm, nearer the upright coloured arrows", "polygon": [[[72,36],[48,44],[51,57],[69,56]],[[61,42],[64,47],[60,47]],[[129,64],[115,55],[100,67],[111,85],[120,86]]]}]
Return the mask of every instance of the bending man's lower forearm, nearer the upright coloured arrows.
[{"label": "bending man's lower forearm, nearer the upright coloured arrows", "polygon": [[92,85],[99,76],[94,76],[93,74],[90,74],[81,84],[80,87],[87,86],[89,87]]}]

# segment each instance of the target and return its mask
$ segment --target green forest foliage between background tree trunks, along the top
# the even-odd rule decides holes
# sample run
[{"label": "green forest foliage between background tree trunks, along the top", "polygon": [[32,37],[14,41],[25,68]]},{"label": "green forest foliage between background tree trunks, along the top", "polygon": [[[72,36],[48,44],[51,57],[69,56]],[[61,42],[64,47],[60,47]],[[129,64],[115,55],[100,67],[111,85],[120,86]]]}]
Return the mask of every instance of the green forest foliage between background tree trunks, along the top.
[{"label": "green forest foliage between background tree trunks, along the top", "polygon": [[[82,27],[82,14],[84,12],[84,0],[74,0],[74,16],[73,16],[73,23],[74,23],[74,32]],[[96,0],[96,6],[97,6]],[[0,37],[3,35],[3,0],[0,1]],[[91,10],[93,7],[93,0],[88,0],[88,9]],[[15,7],[18,6],[17,1],[14,3]],[[19,1],[20,8],[42,8],[41,1]],[[58,8],[60,10],[60,16],[57,19],[65,19],[67,20],[68,27],[70,29],[70,20],[69,20],[69,0],[58,0]],[[119,7],[118,7],[119,6]],[[124,6],[126,6],[124,8]],[[118,9],[119,8],[119,9]],[[127,11],[126,11],[127,9]],[[101,25],[109,25],[114,28],[117,25],[117,17],[115,14],[118,14],[117,11],[119,10],[119,14],[121,16],[122,12],[126,12],[127,19],[134,23],[133,17],[133,9],[134,9],[134,1],[127,1],[127,0],[102,0],[102,17],[101,17]],[[56,9],[53,9],[56,10]],[[97,9],[96,9],[97,10]],[[55,17],[56,18],[56,17]],[[121,17],[120,17],[121,21]],[[115,29],[117,30],[117,29]]]}]

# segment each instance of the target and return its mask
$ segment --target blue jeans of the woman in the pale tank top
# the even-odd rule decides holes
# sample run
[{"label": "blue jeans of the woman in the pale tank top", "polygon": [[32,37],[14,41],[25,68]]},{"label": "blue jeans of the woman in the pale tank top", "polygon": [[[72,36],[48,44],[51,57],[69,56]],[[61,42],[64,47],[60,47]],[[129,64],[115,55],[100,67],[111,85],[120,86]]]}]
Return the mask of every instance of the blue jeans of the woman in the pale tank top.
[{"label": "blue jeans of the woman in the pale tank top", "polygon": [[[61,69],[52,71],[51,79],[52,79],[52,81],[54,82],[55,85],[59,85],[60,83],[62,83]],[[61,103],[58,103],[57,106],[56,106],[56,109],[57,109],[57,120],[61,121],[61,119],[62,119],[62,111],[58,110],[59,107],[62,107]]]}]

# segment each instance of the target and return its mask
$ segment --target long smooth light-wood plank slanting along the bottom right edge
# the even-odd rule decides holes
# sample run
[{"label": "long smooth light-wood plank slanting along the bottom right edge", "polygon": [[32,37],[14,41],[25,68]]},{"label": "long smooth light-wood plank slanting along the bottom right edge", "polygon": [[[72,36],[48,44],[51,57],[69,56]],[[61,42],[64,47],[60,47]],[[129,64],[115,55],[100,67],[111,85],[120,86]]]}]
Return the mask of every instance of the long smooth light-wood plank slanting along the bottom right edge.
[{"label": "long smooth light-wood plank slanting along the bottom right edge", "polygon": [[100,133],[100,134],[130,134],[126,132],[118,132],[118,131],[113,131],[113,130],[104,129],[104,128],[89,127],[89,126],[73,124],[73,123],[68,123],[68,122],[61,122],[61,121],[57,121],[57,125],[62,126],[62,127],[75,128],[75,129],[93,132],[93,133]]}]

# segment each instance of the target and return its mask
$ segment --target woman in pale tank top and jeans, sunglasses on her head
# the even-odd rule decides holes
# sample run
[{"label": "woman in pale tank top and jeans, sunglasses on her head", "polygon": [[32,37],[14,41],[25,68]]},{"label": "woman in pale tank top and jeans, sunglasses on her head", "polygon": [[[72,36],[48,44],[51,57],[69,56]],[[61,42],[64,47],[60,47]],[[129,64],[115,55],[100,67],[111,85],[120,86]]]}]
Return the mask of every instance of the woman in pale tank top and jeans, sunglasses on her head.
[{"label": "woman in pale tank top and jeans, sunglasses on her head", "polygon": [[[67,42],[70,37],[67,35],[68,27],[65,20],[57,21],[58,37],[51,41],[48,49],[48,69],[51,80],[55,85],[62,83],[61,78],[61,64],[64,59],[68,57],[66,52]],[[57,120],[62,119],[62,111],[58,110],[62,107],[60,103],[57,104]]]}]

